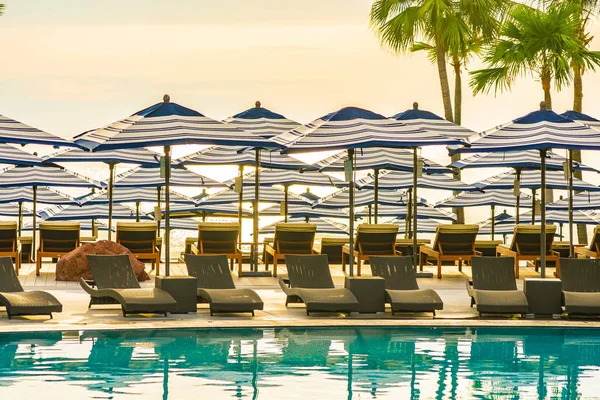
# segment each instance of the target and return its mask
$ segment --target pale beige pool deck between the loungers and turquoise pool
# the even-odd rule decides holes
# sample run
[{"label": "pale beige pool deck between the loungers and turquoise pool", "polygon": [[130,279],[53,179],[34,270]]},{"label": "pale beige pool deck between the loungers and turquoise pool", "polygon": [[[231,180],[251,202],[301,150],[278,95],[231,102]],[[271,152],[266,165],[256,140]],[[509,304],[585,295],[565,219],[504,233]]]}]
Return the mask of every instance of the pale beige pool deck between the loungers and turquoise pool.
[{"label": "pale beige pool deck between the loungers and turquoise pool", "polygon": [[[162,267],[162,266],[161,266]],[[367,268],[368,269],[368,268]],[[182,264],[171,264],[171,275],[184,275]],[[433,272],[432,267],[426,271]],[[550,269],[550,274],[552,274]],[[286,273],[281,267],[280,275]],[[444,310],[438,311],[436,318],[431,314],[396,314],[388,310],[385,314],[353,314],[343,316],[335,313],[306,315],[303,305],[285,307],[285,294],[279,288],[277,278],[242,277],[234,278],[238,287],[252,288],[262,297],[265,309],[258,311],[255,317],[249,314],[217,314],[210,316],[205,305],[199,305],[195,314],[132,315],[123,318],[120,306],[95,306],[88,309],[89,296],[80,288],[78,282],[57,282],[54,264],[44,264],[39,277],[35,276],[35,265],[23,264],[19,279],[25,290],[46,290],[63,303],[63,312],[54,314],[54,319],[45,316],[6,318],[0,311],[0,332],[25,331],[73,331],[105,329],[163,329],[163,328],[233,328],[233,327],[327,327],[327,326],[501,326],[501,327],[597,327],[600,319],[533,319],[517,317],[479,318],[474,308],[469,307],[470,299],[465,289],[465,278],[471,274],[469,267],[459,273],[456,267],[445,267],[443,279],[419,279],[421,288],[431,288],[438,292],[444,302]],[[532,268],[521,267],[523,278],[539,277]],[[344,284],[344,274],[339,265],[332,266],[332,275],[336,286]],[[143,287],[154,286],[152,280],[142,283]]]}]

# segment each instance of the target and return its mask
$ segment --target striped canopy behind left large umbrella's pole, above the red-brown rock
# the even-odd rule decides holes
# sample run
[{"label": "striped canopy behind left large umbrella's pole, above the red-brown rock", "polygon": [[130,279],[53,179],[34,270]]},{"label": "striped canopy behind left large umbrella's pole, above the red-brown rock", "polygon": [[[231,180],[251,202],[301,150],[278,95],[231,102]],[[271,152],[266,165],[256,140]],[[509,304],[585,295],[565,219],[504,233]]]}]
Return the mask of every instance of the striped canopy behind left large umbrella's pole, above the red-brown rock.
[{"label": "striped canopy behind left large umbrella's pole, above the red-brown rock", "polygon": [[[197,174],[187,169],[172,169],[171,184],[173,186],[225,186],[207,176]],[[136,167],[117,175],[115,188],[118,187],[163,187],[165,178],[160,176],[159,168]],[[116,191],[115,191],[116,193]]]}]

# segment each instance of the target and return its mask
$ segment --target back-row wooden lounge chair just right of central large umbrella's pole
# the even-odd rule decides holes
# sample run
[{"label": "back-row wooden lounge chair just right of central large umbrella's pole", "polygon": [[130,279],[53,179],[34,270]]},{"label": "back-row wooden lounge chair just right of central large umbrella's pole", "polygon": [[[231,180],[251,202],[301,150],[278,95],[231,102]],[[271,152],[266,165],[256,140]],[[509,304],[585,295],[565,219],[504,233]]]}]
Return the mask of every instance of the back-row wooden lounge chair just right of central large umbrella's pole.
[{"label": "back-row wooden lounge chair just right of central large umbrella's pole", "polygon": [[[363,261],[369,256],[401,256],[396,250],[396,237],[399,226],[396,224],[360,224],[356,229],[356,240],[352,256],[356,258],[356,274],[361,275]],[[342,248],[342,271],[346,271],[346,259],[350,258],[350,245]]]}]

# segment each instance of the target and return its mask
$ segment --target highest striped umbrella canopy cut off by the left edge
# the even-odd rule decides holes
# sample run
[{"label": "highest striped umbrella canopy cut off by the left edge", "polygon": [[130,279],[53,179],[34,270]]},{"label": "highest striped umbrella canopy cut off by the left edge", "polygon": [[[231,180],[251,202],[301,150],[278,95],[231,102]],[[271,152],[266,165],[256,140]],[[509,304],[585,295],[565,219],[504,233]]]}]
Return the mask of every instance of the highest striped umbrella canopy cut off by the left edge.
[{"label": "highest striped umbrella canopy cut off by the left edge", "polygon": [[0,115],[0,143],[42,144],[54,147],[80,147],[59,136],[32,128],[22,122]]}]

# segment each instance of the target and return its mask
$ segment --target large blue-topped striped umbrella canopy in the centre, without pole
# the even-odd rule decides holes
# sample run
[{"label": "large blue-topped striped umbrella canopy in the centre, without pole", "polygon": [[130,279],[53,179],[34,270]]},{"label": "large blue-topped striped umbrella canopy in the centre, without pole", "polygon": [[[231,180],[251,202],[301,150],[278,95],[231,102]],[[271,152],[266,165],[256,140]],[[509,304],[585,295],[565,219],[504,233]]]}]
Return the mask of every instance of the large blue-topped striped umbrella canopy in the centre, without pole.
[{"label": "large blue-topped striped umbrella canopy in the centre, without pole", "polygon": [[334,111],[271,140],[288,153],[461,143],[358,107]]}]

